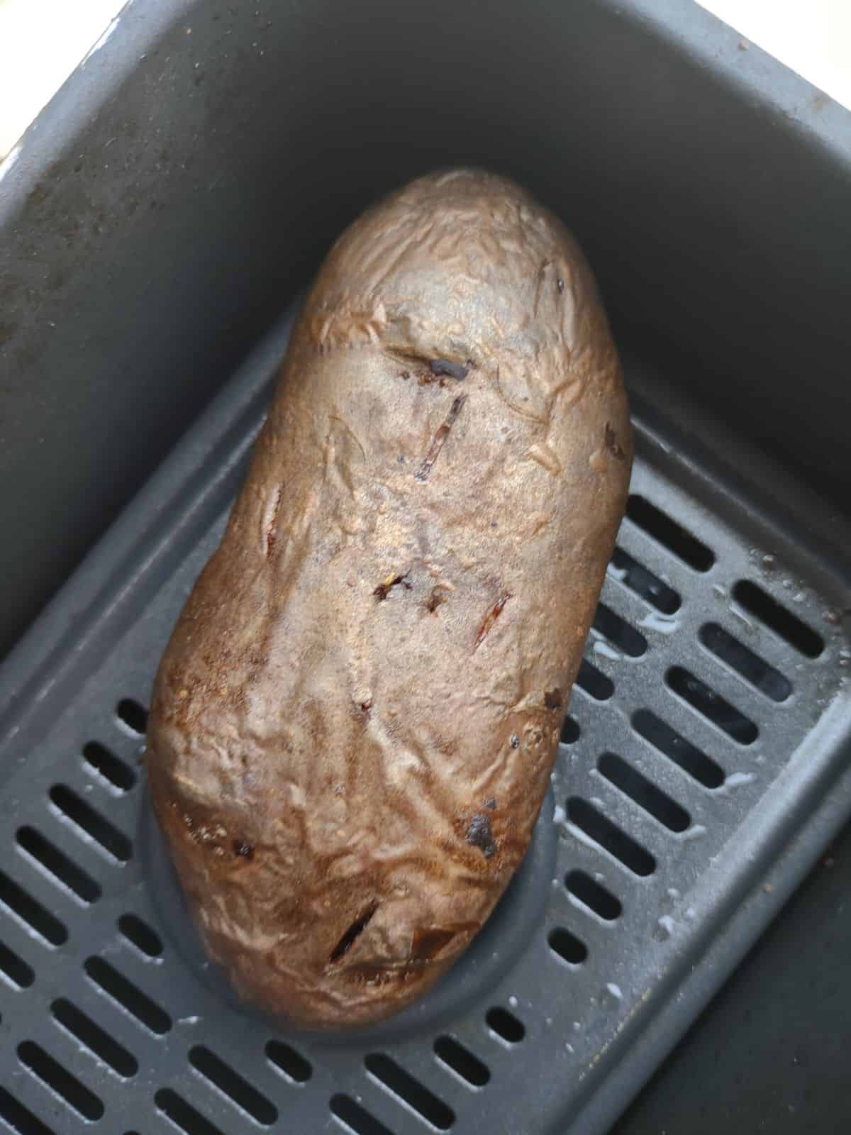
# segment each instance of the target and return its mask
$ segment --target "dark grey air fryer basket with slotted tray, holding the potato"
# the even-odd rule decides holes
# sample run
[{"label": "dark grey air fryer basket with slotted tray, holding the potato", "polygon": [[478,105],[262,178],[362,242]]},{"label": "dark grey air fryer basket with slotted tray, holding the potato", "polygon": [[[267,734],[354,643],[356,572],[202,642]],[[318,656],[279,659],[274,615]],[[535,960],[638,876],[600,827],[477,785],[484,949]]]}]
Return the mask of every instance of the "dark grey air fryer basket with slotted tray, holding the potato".
[{"label": "dark grey air fryer basket with slotted tray, holding the potato", "polygon": [[[136,0],[0,166],[0,1129],[603,1133],[846,818],[851,120],[744,48],[689,0]],[[494,918],[310,1036],[204,960],[146,704],[294,297],[457,162],[583,243],[630,504]]]}]

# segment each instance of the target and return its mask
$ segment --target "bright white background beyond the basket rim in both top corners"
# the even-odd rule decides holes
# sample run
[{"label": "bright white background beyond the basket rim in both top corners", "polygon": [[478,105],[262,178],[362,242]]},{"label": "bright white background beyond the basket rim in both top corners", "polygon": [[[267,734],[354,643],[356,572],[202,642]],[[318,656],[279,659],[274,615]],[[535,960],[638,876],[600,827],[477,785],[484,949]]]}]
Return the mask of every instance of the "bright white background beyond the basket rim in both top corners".
[{"label": "bright white background beyond the basket rim in both top corners", "polygon": [[[0,158],[121,7],[123,0],[0,0]],[[851,0],[705,0],[703,7],[851,108]]]}]

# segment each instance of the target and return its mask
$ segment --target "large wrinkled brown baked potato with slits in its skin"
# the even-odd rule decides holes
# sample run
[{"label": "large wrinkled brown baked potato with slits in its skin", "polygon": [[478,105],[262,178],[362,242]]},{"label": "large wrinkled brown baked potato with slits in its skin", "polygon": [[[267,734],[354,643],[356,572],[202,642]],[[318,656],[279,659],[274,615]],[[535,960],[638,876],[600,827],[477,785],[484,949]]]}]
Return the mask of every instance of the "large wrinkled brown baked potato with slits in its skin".
[{"label": "large wrinkled brown baked potato with slits in its skin", "polygon": [[517,186],[429,176],[334,246],[152,704],[155,812],[244,997],[379,1020],[488,918],[631,460],[588,266]]}]

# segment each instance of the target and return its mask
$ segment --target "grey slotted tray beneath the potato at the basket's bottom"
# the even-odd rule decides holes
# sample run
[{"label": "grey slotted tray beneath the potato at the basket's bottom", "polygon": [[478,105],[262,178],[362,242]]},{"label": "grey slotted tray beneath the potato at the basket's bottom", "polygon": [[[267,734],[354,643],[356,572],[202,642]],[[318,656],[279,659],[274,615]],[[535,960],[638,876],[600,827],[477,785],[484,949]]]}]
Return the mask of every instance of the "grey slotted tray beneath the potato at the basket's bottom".
[{"label": "grey slotted tray beneath the potato at the basket's bottom", "polygon": [[[601,1133],[851,809],[848,575],[789,537],[812,516],[775,523],[639,410],[632,493],[658,512],[633,499],[622,527],[587,649],[597,675],[574,689],[516,884],[404,1018],[289,1033],[236,1006],[200,957],[137,762],[140,707],[286,334],[285,321],[0,671],[0,1126]],[[764,599],[769,623],[748,609],[755,594],[799,621],[787,637]],[[648,712],[680,740],[648,729]]]}]

